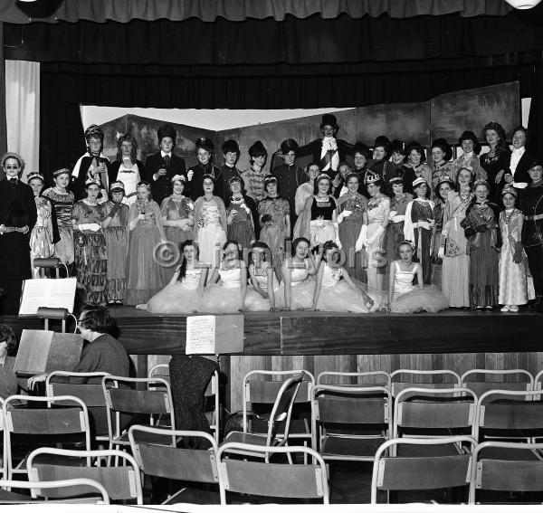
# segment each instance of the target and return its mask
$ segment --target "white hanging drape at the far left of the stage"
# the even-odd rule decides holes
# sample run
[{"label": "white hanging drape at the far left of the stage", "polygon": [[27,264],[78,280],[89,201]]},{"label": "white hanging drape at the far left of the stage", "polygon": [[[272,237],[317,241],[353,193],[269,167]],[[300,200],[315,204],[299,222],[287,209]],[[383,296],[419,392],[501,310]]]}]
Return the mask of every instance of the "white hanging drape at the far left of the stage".
[{"label": "white hanging drape at the far left of the stage", "polygon": [[40,170],[40,63],[5,61],[7,147],[26,162],[24,176]]}]

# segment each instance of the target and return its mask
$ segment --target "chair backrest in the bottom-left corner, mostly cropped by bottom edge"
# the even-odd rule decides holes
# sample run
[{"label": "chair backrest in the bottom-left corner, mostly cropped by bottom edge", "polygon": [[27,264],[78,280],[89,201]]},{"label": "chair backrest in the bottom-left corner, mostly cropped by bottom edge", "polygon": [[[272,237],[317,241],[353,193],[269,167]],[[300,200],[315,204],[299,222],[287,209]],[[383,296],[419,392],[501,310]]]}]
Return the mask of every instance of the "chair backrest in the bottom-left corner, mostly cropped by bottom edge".
[{"label": "chair backrest in the bottom-left corner, mostly cropped by bottom edge", "polygon": [[[69,497],[68,500],[52,500],[48,501],[47,504],[58,503],[58,502],[76,502],[77,504],[110,504],[110,497],[108,496],[107,490],[95,480],[90,480],[87,478],[78,478],[72,480],[58,480],[58,481],[20,481],[20,480],[0,480],[0,488],[8,489],[31,489],[33,497],[28,497],[28,500],[25,502],[35,503],[34,497],[45,497],[43,494],[43,489],[66,489],[62,492],[62,496]],[[81,490],[73,493],[73,489]],[[90,493],[99,493],[101,499],[95,497],[90,498],[81,498],[77,497],[77,500],[74,500],[75,496],[79,495],[88,495]],[[65,495],[64,495],[65,494]],[[23,501],[17,500],[19,504],[22,504]]]}]

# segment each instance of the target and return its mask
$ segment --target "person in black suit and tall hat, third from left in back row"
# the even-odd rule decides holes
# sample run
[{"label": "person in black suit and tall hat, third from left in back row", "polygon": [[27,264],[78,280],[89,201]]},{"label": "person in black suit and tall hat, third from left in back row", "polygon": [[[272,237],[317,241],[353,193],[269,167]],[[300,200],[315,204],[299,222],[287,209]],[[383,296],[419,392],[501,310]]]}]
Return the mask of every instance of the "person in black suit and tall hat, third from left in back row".
[{"label": "person in black suit and tall hat, third from left in back row", "polygon": [[151,184],[153,199],[157,204],[162,204],[164,198],[172,194],[172,178],[187,174],[185,161],[174,153],[176,129],[171,125],[162,125],[157,129],[157,138],[160,151],[147,157],[143,179]]}]

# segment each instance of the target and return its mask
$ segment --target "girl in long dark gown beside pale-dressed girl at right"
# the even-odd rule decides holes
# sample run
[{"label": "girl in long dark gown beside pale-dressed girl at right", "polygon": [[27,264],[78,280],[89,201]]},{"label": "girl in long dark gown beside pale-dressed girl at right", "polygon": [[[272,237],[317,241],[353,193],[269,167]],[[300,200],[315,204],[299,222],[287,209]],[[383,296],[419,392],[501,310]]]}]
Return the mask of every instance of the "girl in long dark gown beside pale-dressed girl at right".
[{"label": "girl in long dark gown beside pale-dressed girl at right", "polygon": [[470,306],[492,309],[498,304],[499,247],[496,204],[489,204],[490,187],[484,180],[473,184],[475,197],[466,210],[463,227],[470,255]]}]

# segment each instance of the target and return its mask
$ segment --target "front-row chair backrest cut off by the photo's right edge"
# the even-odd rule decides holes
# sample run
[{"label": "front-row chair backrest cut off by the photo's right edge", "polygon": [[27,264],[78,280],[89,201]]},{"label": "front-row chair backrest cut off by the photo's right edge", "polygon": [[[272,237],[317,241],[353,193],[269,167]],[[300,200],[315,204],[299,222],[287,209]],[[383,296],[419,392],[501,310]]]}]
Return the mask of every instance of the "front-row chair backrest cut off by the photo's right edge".
[{"label": "front-row chair backrest cut off by the photo's right edge", "polygon": [[[485,449],[493,449],[492,458],[484,458]],[[507,456],[500,460],[499,451],[507,451]],[[511,451],[514,450],[514,451]],[[475,504],[478,489],[495,491],[543,491],[543,461],[525,460],[520,455],[523,451],[543,451],[543,443],[519,442],[482,442],[473,451],[472,479],[470,481],[470,504]],[[517,452],[519,459],[513,454]]]}]

